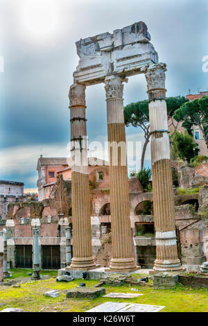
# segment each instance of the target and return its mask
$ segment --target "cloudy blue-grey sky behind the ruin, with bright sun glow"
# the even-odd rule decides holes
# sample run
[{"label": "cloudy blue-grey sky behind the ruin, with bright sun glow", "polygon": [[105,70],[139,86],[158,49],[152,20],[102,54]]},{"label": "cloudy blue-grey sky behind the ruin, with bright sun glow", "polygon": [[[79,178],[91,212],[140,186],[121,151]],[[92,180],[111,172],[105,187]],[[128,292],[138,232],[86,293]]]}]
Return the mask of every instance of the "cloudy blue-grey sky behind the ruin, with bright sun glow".
[{"label": "cloudy blue-grey sky behind the ruin, with bright sun glow", "polygon": [[[69,155],[68,92],[77,40],[143,21],[159,61],[167,64],[167,96],[189,89],[196,94],[208,89],[202,71],[207,17],[207,0],[0,0],[0,178],[33,188],[41,150],[44,156]],[[146,97],[144,76],[129,78],[124,104]],[[105,141],[103,85],[87,87],[86,99],[89,141]],[[143,140],[139,128],[126,133],[128,140]]]}]

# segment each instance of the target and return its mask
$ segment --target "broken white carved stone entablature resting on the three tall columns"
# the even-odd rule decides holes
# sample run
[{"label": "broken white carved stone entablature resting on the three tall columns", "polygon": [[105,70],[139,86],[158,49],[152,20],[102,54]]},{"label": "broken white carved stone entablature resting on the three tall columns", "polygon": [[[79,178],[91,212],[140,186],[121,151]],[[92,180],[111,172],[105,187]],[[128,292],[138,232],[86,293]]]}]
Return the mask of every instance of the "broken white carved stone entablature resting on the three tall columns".
[{"label": "broken white carved stone entablature resting on the three tall columns", "polygon": [[76,42],[78,67],[73,73],[75,83],[103,83],[105,76],[121,77],[141,73],[142,67],[158,62],[158,55],[149,42],[144,22],[116,29]]}]

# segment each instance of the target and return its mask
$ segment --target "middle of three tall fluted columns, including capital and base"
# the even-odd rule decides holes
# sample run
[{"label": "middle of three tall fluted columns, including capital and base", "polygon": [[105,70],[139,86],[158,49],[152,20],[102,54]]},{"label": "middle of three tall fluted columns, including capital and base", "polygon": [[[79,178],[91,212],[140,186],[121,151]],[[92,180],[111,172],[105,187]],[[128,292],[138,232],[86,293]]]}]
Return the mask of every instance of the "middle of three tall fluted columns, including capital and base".
[{"label": "middle of three tall fluted columns, including capital and base", "polygon": [[121,78],[105,78],[107,135],[110,157],[110,209],[112,225],[112,260],[110,270],[133,271],[137,268],[132,253],[123,83]]}]

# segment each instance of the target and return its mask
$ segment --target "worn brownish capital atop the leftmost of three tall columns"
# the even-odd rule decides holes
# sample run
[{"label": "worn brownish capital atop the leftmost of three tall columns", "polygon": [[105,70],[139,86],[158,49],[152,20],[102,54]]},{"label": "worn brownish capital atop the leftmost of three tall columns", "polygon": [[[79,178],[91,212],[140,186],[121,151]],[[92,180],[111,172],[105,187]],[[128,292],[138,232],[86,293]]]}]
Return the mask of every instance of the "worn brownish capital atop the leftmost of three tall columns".
[{"label": "worn brownish capital atop the leftmost of three tall columns", "polygon": [[72,84],[69,89],[69,106],[85,106],[85,89],[83,84]]}]

